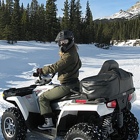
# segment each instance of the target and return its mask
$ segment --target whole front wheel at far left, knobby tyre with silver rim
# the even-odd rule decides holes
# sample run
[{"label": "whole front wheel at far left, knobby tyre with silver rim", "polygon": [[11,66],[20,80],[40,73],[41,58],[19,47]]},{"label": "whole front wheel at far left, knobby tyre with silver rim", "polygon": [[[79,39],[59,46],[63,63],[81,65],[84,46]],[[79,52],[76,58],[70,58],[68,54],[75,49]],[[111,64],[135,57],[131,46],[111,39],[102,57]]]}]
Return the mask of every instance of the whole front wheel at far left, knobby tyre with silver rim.
[{"label": "whole front wheel at far left, knobby tyre with silver rim", "polygon": [[11,107],[3,113],[1,129],[6,140],[25,140],[27,128],[19,109]]}]

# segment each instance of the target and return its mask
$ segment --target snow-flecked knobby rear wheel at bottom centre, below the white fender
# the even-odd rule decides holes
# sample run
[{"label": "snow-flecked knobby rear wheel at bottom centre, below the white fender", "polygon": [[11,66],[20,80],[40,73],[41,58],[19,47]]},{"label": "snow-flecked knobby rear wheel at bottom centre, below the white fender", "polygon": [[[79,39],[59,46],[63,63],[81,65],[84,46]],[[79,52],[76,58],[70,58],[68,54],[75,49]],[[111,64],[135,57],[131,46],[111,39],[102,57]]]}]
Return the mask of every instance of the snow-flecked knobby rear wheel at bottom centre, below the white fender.
[{"label": "snow-flecked knobby rear wheel at bottom centre, below the white fender", "polygon": [[98,126],[79,123],[67,132],[64,140],[103,140]]}]

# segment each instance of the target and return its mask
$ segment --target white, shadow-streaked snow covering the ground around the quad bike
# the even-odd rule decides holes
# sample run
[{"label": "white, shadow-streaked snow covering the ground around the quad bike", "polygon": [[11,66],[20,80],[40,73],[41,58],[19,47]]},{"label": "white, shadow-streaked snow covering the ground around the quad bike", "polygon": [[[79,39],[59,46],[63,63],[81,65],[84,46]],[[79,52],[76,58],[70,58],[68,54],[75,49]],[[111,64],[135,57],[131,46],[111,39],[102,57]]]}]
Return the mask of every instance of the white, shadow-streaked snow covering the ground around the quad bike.
[{"label": "white, shadow-streaked snow covering the ground around the quad bike", "polygon": [[[116,60],[121,68],[132,72],[134,75],[137,100],[133,103],[132,112],[140,123],[140,46],[133,47],[128,46],[128,44],[131,45],[132,43],[122,43],[118,46],[112,46],[108,50],[96,48],[94,44],[78,44],[78,52],[83,64],[79,79],[96,75],[104,61]],[[3,100],[1,96],[3,90],[33,84],[35,78],[32,73],[36,68],[54,63],[58,59],[58,46],[55,43],[20,41],[10,45],[6,41],[0,41],[0,120],[3,111],[11,106]],[[59,83],[57,76],[53,78],[53,82]],[[28,133],[26,140],[33,139],[40,140],[40,137]],[[138,139],[140,140],[140,135]],[[1,131],[0,140],[4,140]]]}]

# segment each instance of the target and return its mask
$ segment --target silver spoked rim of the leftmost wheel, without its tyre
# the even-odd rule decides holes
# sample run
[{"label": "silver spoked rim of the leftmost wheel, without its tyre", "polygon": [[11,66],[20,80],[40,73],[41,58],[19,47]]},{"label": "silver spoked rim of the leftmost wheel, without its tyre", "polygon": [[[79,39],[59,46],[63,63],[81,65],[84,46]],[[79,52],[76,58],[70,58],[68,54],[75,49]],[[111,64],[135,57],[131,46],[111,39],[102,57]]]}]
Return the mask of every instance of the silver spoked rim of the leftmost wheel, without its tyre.
[{"label": "silver spoked rim of the leftmost wheel, without its tyre", "polygon": [[15,135],[15,123],[12,118],[7,117],[4,121],[4,131],[8,137]]}]

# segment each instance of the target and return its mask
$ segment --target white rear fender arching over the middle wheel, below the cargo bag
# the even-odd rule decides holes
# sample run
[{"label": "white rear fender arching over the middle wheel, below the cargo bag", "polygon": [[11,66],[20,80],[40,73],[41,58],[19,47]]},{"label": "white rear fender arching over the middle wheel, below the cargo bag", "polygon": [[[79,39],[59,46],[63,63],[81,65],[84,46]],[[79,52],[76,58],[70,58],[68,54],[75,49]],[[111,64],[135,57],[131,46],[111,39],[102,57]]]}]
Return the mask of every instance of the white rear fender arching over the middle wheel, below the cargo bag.
[{"label": "white rear fender arching over the middle wheel, below the cargo bag", "polygon": [[114,108],[107,108],[105,103],[100,103],[100,104],[71,103],[62,108],[57,121],[57,126],[59,125],[59,122],[63,116],[66,116],[67,114],[76,115],[78,111],[95,111],[100,116],[104,116],[112,113],[114,111]]}]

